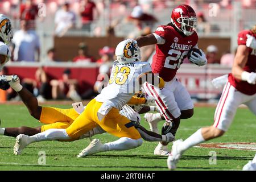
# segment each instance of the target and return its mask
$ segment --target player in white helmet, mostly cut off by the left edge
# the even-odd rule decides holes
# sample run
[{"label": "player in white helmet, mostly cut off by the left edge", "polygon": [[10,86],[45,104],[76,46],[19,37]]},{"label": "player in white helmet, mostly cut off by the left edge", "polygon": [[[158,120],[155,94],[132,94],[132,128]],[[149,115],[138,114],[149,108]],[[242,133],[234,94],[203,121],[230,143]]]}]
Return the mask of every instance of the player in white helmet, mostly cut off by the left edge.
[{"label": "player in white helmet, mostly cut off by the left edge", "polygon": [[5,15],[0,14],[0,70],[10,60],[11,51],[7,46],[13,38],[13,26]]}]

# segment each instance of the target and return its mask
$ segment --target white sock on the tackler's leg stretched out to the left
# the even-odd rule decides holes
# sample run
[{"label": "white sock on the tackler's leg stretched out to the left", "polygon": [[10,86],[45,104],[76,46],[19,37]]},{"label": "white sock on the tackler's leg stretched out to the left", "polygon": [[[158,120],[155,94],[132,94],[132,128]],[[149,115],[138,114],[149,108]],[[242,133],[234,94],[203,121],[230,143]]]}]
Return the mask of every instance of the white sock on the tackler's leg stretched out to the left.
[{"label": "white sock on the tackler's leg stretched out to the left", "polygon": [[49,129],[42,133],[35,134],[30,137],[30,143],[40,142],[44,140],[68,140],[71,137],[68,136],[65,129]]}]

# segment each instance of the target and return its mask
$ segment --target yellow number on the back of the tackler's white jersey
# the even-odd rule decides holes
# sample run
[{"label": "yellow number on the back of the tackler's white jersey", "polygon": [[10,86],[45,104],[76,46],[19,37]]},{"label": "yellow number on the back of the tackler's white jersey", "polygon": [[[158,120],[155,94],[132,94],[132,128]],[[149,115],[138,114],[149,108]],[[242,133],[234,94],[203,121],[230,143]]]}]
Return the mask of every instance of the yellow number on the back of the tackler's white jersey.
[{"label": "yellow number on the back of the tackler's white jersey", "polygon": [[116,66],[115,70],[112,71],[111,77],[109,79],[109,84],[113,84],[113,82],[115,81],[115,84],[123,85],[126,82],[129,74],[130,74],[129,67],[121,67],[119,69],[119,67]]}]

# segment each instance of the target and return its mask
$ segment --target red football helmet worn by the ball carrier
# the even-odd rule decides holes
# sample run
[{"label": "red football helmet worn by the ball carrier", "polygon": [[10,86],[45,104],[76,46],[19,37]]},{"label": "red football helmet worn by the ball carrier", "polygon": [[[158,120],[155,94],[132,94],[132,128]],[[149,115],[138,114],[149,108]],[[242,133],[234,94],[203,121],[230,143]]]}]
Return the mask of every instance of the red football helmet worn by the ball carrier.
[{"label": "red football helmet worn by the ball carrier", "polygon": [[192,35],[196,30],[196,13],[191,6],[179,5],[172,10],[171,22],[184,35]]}]

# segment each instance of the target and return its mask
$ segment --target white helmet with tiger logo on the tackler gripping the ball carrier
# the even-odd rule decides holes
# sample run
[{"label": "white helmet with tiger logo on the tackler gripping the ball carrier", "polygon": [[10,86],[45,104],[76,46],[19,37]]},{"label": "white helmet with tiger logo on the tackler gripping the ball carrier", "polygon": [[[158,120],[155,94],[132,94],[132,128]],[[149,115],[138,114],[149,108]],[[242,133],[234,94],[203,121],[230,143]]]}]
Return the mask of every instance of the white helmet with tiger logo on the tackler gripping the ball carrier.
[{"label": "white helmet with tiger logo on the tackler gripping the ball carrier", "polygon": [[133,63],[141,61],[141,50],[136,40],[127,39],[117,45],[115,56],[117,56],[119,63]]}]

